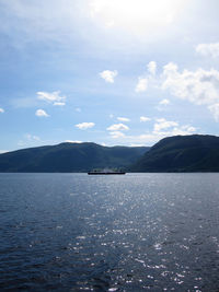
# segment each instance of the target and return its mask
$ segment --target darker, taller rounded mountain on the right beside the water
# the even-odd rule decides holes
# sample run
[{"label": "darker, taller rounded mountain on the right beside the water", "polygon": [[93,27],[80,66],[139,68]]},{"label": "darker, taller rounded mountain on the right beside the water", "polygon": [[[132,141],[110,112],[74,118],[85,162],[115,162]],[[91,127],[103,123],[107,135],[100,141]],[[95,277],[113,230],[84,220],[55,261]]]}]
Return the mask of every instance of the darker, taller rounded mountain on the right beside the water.
[{"label": "darker, taller rounded mountain on the right beside the water", "polygon": [[131,172],[219,172],[219,137],[193,135],[164,138]]}]

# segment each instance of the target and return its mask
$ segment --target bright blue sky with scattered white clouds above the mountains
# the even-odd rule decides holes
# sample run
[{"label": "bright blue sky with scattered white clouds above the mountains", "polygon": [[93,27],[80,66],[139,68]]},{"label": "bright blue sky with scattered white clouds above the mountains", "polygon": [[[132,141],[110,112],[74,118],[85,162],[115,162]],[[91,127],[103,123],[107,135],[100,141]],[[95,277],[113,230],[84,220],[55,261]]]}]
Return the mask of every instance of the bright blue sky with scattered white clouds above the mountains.
[{"label": "bright blue sky with scattered white clouds above the mountains", "polygon": [[219,135],[218,0],[0,0],[0,152]]}]

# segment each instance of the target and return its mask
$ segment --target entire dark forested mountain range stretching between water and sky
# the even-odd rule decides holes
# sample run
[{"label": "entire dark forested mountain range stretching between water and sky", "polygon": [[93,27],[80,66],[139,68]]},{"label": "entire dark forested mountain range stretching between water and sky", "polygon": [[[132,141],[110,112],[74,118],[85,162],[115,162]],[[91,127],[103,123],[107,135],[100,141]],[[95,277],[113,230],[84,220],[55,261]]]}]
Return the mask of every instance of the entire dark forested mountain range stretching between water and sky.
[{"label": "entire dark forested mountain range stretching between water and sky", "polygon": [[94,168],[127,172],[219,172],[219,137],[164,138],[152,148],[61,143],[0,154],[0,172],[71,173]]}]

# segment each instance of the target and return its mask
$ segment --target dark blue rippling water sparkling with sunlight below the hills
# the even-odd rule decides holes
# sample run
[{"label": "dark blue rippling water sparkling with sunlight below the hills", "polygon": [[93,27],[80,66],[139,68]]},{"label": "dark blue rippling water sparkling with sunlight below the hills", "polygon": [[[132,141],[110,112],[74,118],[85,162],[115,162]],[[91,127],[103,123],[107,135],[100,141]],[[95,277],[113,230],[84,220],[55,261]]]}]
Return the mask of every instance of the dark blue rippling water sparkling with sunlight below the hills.
[{"label": "dark blue rippling water sparkling with sunlight below the hills", "polygon": [[219,174],[0,174],[0,291],[219,291]]}]

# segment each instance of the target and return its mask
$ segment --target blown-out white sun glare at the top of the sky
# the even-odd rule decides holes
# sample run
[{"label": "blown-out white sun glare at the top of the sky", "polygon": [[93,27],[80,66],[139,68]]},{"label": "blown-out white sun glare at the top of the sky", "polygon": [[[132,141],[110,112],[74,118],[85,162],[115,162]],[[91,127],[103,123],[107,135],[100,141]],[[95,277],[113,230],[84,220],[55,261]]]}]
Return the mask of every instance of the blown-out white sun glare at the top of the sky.
[{"label": "blown-out white sun glare at the top of the sky", "polygon": [[134,33],[170,25],[185,0],[92,0],[92,16],[106,27]]}]

